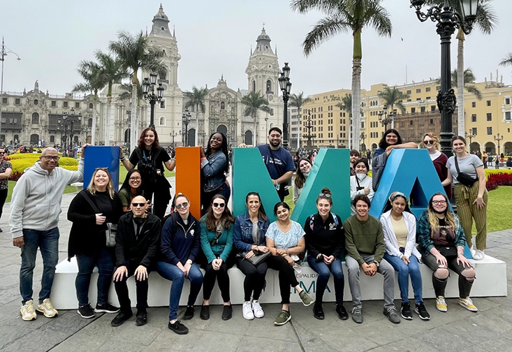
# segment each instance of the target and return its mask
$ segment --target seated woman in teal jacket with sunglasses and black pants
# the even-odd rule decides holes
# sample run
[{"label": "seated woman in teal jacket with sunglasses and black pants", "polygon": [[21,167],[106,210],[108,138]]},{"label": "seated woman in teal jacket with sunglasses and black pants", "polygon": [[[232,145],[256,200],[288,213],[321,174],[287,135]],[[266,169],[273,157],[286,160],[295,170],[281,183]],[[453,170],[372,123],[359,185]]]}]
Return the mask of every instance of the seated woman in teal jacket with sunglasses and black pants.
[{"label": "seated woman in teal jacket with sunglasses and black pants", "polygon": [[203,279],[203,307],[200,318],[210,318],[210,295],[212,295],[215,278],[219,282],[224,310],[222,320],[231,319],[233,309],[229,296],[228,269],[233,266],[228,258],[233,249],[233,223],[235,218],[228,209],[228,201],[220,194],[213,197],[207,213],[200,219],[201,223],[201,248],[206,256],[206,273]]}]

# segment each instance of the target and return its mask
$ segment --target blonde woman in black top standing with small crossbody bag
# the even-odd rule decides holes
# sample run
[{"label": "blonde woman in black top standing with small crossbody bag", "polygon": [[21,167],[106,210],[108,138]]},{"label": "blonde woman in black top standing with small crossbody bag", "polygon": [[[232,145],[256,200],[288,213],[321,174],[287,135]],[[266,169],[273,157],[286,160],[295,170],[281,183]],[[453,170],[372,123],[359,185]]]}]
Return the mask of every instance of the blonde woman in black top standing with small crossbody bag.
[{"label": "blonde woman in black top standing with small crossbody bag", "polygon": [[[93,207],[94,205],[94,207]],[[117,313],[119,308],[108,302],[108,290],[114,270],[114,247],[107,247],[107,223],[117,223],[122,215],[119,197],[112,186],[108,168],[97,168],[87,189],[82,189],[68,208],[73,223],[69,233],[68,261],[76,256],[78,274],[75,280],[78,314],[94,318],[96,313]],[[94,267],[98,267],[98,299],[93,310],[89,304],[89,284]]]}]

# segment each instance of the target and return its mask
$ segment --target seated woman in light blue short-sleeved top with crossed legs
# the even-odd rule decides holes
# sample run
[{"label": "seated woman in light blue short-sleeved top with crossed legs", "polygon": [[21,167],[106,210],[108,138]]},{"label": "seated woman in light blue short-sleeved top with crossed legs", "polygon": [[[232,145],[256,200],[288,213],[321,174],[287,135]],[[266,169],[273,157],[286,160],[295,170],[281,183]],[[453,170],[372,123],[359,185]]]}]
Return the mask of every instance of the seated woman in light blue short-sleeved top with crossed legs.
[{"label": "seated woman in light blue short-sleeved top with crossed legs", "polygon": [[284,325],[291,320],[290,287],[295,288],[302,304],[312,305],[314,300],[302,290],[295,277],[294,266],[300,262],[300,256],[306,249],[305,232],[300,223],[290,219],[290,206],[279,202],[274,206],[277,221],[268,226],[267,247],[272,253],[267,259],[270,269],[279,271],[279,291],[281,292],[281,312],[277,314],[274,325]]}]

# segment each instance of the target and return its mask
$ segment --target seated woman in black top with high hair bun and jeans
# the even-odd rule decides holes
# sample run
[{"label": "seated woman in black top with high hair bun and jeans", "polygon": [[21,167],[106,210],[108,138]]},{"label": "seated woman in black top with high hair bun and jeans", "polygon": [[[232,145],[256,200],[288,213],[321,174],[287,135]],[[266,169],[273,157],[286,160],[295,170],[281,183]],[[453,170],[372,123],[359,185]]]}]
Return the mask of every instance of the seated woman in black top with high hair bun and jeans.
[{"label": "seated woman in black top with high hair bun and jeans", "polygon": [[342,320],[349,318],[343,307],[343,290],[345,280],[343,276],[342,259],[339,255],[345,248],[345,234],[342,219],[330,212],[332,208],[332,194],[330,189],[323,188],[316,198],[318,212],[306,219],[307,263],[316,273],[316,302],[313,316],[317,319],[325,318],[323,314],[323,293],[326,291],[330,274],[334,278],[336,293],[336,312]]}]

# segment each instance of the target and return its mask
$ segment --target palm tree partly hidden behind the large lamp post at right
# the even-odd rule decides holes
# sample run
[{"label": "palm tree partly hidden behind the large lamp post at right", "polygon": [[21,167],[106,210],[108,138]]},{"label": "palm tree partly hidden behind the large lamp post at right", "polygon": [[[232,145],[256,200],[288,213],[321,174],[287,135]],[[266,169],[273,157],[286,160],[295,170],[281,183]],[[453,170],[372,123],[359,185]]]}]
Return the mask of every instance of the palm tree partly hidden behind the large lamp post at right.
[{"label": "palm tree partly hidden behind the large lamp post at right", "polygon": [[[481,0],[479,1],[478,8],[476,8],[476,19],[474,24],[481,30],[483,34],[490,34],[492,29],[495,29],[498,22],[497,16],[490,6],[492,0]],[[444,4],[444,0],[427,0],[427,5],[440,5]],[[462,8],[460,7],[460,0],[448,0],[448,5],[457,9],[459,15],[462,15]],[[458,109],[458,135],[464,135],[465,121],[464,121],[464,88],[465,88],[465,69],[464,69],[464,41],[465,35],[462,29],[459,29],[457,34],[458,46],[457,46],[457,99],[458,106],[462,107]],[[453,81],[453,78],[452,78]]]}]

